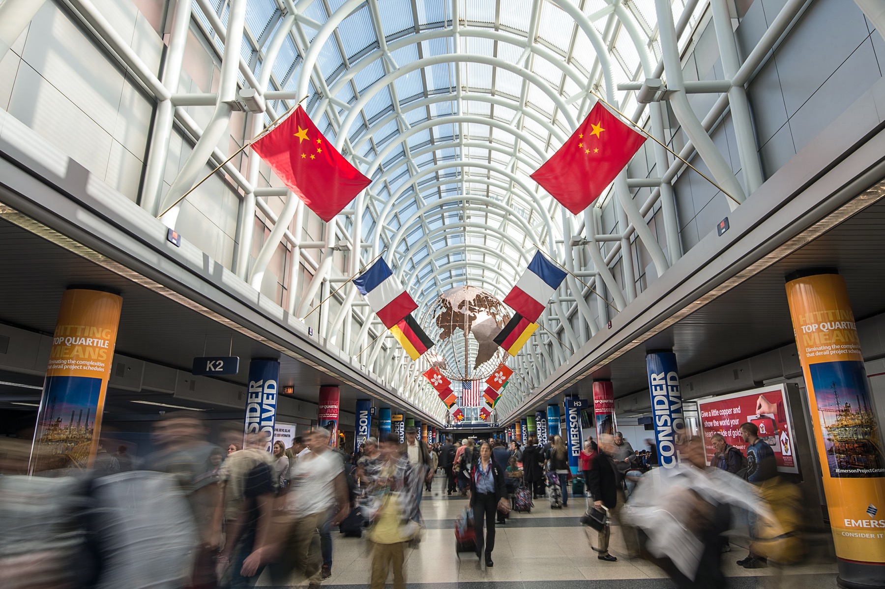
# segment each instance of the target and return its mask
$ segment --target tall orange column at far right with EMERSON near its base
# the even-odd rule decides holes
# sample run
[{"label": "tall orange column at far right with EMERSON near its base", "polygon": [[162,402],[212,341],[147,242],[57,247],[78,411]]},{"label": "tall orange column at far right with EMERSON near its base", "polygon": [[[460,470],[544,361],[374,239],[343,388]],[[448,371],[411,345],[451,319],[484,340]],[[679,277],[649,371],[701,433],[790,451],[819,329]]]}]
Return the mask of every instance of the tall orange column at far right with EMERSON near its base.
[{"label": "tall orange column at far right with EMERSON near its base", "polygon": [[787,277],[789,312],[823,473],[839,582],[885,586],[885,460],[845,280]]}]

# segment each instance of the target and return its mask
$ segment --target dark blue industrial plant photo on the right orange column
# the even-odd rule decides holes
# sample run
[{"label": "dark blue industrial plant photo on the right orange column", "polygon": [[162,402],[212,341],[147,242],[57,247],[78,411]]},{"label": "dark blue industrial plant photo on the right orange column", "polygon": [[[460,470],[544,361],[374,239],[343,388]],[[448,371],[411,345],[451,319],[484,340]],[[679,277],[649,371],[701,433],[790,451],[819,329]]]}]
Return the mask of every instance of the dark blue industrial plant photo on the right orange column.
[{"label": "dark blue industrial plant photo on the right orange column", "polygon": [[881,477],[885,473],[882,442],[863,364],[827,362],[810,368],[830,476]]}]

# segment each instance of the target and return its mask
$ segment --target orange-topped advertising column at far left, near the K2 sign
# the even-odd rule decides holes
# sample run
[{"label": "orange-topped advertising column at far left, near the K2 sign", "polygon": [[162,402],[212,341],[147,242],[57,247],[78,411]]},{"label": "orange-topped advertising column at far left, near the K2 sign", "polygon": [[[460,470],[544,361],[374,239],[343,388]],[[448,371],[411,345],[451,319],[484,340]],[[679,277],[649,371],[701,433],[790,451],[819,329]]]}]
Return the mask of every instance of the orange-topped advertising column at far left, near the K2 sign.
[{"label": "orange-topped advertising column at far left, near the K2 sign", "polygon": [[123,299],[66,290],[52,335],[29,470],[88,468],[95,460]]}]

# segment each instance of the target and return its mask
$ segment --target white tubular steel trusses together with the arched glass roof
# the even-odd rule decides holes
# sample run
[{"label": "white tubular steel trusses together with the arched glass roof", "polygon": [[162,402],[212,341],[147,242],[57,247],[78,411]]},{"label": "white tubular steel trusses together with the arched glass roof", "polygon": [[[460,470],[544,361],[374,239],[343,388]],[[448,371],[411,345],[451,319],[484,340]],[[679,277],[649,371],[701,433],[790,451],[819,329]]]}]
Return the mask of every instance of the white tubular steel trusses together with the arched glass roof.
[{"label": "white tubular steel trusses together with the arched glass roof", "polygon": [[[502,421],[635,299],[641,270],[635,267],[636,241],[658,276],[682,253],[672,181],[684,164],[662,146],[650,149],[656,177],[622,172],[579,216],[562,209],[529,174],[566,141],[595,95],[661,139],[666,101],[689,138],[680,156],[696,153],[734,209],[763,180],[745,86],[808,2],[788,0],[742,62],[727,0],[177,0],[162,70],[153,73],[89,0],[67,1],[156,101],[140,200],[150,213],[184,195],[206,164],[227,159],[219,140],[249,89],[259,100],[250,109],[247,135],[304,100],[319,129],[373,180],[352,209],[325,226],[321,241],[304,241],[300,228],[309,213],[287,190],[259,187],[257,156],[248,156],[244,173],[231,163],[220,167],[242,191],[232,270],[259,288],[274,251],[286,242],[292,269],[304,264],[312,274],[297,309],[298,276],[291,274],[283,307],[297,317],[382,252],[421,308],[445,289],[468,283],[503,297],[535,249],[564,264],[571,273],[539,320],[543,330],[512,360],[518,376],[497,406]],[[880,3],[856,2],[885,27]],[[0,58],[41,4],[0,3]],[[726,80],[686,81],[681,52],[707,11]],[[220,80],[212,94],[173,91],[194,29],[219,51]],[[666,93],[649,100],[653,82],[666,84]],[[687,95],[697,92],[722,95],[703,119],[689,107]],[[194,105],[214,108],[205,128],[184,110]],[[726,111],[746,189],[710,138]],[[163,194],[176,125],[196,145]],[[640,187],[650,189],[643,202],[633,193]],[[284,199],[279,214],[265,202],[273,195]],[[601,208],[610,202],[619,233],[601,226]],[[647,218],[657,206],[664,222],[655,235]],[[272,227],[251,260],[256,214]],[[163,219],[174,226],[176,215],[173,207]],[[338,272],[333,251],[342,241],[351,255]],[[334,315],[324,305],[320,337],[351,356],[365,350],[358,359],[366,371],[395,383],[404,402],[444,421],[443,404],[416,378],[421,363],[385,336],[356,295],[346,284],[332,297]]]}]

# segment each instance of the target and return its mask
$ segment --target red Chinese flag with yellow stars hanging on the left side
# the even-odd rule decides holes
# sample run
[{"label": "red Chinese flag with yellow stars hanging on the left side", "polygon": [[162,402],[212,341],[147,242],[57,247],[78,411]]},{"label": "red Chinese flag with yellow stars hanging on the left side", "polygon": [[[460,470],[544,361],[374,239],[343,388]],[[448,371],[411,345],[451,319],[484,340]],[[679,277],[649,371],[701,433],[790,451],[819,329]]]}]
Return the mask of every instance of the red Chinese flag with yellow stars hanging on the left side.
[{"label": "red Chinese flag with yellow stars hanging on the left side", "polygon": [[327,222],[372,183],[326,141],[300,106],[252,143],[252,149],[308,209]]}]

